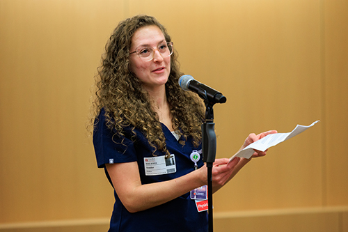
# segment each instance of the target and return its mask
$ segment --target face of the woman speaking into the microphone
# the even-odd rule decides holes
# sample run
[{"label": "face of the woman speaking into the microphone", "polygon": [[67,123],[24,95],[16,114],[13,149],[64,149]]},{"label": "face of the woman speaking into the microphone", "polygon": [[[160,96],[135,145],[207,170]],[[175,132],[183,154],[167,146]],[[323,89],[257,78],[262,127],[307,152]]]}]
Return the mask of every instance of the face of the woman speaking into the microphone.
[{"label": "face of the woman speaking into the microphone", "polygon": [[143,88],[147,91],[164,86],[171,72],[171,56],[163,58],[156,49],[163,42],[166,42],[164,34],[155,25],[141,27],[136,30],[132,37],[132,45],[129,52],[134,52],[144,47],[155,49],[154,58],[151,61],[143,61],[136,53],[129,55],[130,68],[136,77],[141,80]]}]

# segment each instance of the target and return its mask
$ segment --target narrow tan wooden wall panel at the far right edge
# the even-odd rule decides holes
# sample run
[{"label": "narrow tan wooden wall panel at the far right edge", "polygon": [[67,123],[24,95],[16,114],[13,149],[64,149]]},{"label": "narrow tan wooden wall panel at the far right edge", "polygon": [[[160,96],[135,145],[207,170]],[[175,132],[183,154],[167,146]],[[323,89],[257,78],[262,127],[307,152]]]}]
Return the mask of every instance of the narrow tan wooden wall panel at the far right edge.
[{"label": "narrow tan wooden wall panel at the far right edge", "polygon": [[348,204],[348,2],[325,1],[327,205]]}]

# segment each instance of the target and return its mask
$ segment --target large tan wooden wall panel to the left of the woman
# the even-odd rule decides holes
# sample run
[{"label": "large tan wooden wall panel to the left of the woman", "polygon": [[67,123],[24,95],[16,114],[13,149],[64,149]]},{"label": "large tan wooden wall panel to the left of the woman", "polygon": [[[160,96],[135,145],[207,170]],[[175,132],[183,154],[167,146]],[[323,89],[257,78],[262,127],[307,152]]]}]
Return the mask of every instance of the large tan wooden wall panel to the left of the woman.
[{"label": "large tan wooden wall panel to the left of the woman", "polygon": [[0,1],[0,222],[109,217],[85,125],[120,4]]}]

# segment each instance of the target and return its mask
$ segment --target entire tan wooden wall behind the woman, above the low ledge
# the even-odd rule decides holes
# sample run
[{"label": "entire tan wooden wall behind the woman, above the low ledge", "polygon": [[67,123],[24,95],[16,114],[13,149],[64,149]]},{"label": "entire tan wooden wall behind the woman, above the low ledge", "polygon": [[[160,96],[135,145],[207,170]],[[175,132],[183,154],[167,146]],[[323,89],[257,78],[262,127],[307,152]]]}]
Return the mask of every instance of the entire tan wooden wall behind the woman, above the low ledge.
[{"label": "entire tan wooden wall behind the woman, above the low ledge", "polygon": [[0,229],[110,217],[86,136],[90,86],[111,31],[138,13],[168,28],[185,73],[228,98],[214,107],[218,157],[250,132],[321,120],[248,164],[214,212],[348,206],[347,1],[1,0]]}]

